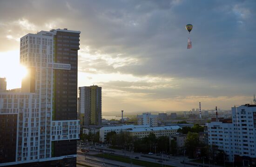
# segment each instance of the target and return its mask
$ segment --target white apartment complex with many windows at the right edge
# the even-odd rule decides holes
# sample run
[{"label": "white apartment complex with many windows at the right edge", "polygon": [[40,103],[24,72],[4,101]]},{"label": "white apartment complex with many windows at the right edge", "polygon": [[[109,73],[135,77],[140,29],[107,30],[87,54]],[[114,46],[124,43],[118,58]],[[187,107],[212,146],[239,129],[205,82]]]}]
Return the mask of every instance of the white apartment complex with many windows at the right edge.
[{"label": "white apartment complex with many windows at the right edge", "polygon": [[224,150],[226,161],[256,166],[256,104],[232,107],[232,123],[208,123],[209,145]]}]

